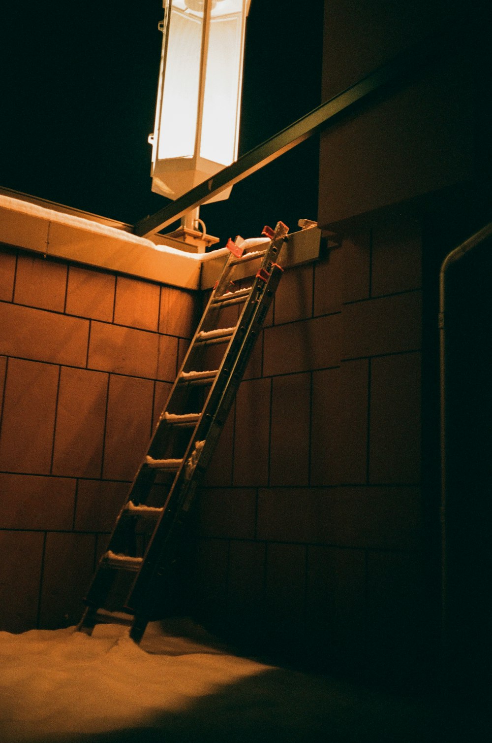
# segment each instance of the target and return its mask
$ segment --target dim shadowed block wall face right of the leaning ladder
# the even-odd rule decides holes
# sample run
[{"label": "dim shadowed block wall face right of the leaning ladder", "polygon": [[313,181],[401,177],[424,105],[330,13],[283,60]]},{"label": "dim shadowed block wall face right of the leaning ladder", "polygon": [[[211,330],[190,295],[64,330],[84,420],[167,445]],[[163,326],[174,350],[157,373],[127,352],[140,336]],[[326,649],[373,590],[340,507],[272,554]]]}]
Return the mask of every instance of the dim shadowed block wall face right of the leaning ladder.
[{"label": "dim shadowed block wall face right of the leaning ladder", "polygon": [[200,496],[194,599],[210,626],[418,670],[421,250],[416,221],[375,218],[283,276]]}]

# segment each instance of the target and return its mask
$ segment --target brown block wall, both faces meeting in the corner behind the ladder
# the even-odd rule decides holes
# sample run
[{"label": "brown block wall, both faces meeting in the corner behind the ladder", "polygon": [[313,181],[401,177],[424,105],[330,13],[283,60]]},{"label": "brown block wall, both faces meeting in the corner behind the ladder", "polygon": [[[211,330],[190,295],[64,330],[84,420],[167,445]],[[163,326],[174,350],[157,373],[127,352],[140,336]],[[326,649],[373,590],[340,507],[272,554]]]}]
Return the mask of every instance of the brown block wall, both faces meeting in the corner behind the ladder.
[{"label": "brown block wall, both faces meeting in the corner behind the ladder", "polygon": [[[419,666],[421,251],[415,220],[375,219],[286,271],[197,502],[198,620]],[[0,271],[2,629],[21,631],[78,620],[197,302],[7,247]]]}]

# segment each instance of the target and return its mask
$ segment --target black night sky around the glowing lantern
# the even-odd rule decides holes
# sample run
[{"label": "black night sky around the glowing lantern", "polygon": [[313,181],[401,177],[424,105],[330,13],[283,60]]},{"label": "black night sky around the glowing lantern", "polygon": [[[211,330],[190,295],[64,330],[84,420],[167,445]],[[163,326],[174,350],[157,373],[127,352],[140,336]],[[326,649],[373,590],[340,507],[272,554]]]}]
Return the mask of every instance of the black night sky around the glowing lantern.
[{"label": "black night sky around the glowing lantern", "polygon": [[[323,0],[252,0],[240,154],[320,103]],[[151,192],[161,0],[26,0],[0,25],[0,186],[129,223]],[[316,218],[315,140],[203,207],[211,234]]]}]

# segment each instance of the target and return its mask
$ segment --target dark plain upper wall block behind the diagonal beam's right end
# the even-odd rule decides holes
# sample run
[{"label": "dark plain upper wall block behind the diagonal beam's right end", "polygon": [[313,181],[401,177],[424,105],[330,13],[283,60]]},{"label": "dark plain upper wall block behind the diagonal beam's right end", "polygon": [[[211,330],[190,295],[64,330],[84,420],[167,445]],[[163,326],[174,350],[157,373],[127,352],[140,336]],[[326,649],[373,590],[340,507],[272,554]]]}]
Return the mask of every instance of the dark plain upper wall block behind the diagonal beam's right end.
[{"label": "dark plain upper wall block behind the diagonal beam's right end", "polygon": [[[490,23],[480,5],[325,2],[322,100],[413,45],[422,44],[416,63],[422,53],[435,51],[437,59],[377,105],[322,132],[318,222],[323,227],[476,177],[482,152],[473,117],[484,108],[479,91],[490,48],[485,36]],[[453,41],[438,52],[446,34]],[[484,118],[490,131],[490,114]]]}]

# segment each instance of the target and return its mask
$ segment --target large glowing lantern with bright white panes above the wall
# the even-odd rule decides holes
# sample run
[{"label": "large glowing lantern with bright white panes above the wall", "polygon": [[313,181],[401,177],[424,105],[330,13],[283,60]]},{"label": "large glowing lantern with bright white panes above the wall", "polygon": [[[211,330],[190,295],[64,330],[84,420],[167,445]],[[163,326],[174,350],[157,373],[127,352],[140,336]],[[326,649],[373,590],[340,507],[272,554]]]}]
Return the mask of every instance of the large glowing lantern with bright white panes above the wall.
[{"label": "large glowing lantern with bright white panes above the wall", "polygon": [[163,6],[152,190],[177,198],[237,158],[249,0],[163,0]]}]

